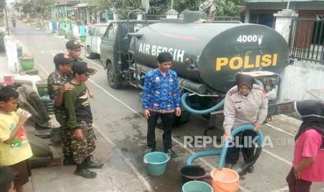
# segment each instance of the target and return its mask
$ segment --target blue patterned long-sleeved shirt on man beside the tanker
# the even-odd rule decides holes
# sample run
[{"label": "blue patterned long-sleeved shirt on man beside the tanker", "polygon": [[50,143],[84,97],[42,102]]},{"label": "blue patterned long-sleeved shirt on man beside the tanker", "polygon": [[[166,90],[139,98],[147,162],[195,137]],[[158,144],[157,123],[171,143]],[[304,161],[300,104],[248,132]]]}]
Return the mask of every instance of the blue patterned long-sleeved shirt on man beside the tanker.
[{"label": "blue patterned long-sleeved shirt on man beside the tanker", "polygon": [[159,113],[174,112],[174,109],[180,106],[180,90],[176,72],[168,70],[165,77],[158,69],[146,73],[142,105],[143,109]]}]

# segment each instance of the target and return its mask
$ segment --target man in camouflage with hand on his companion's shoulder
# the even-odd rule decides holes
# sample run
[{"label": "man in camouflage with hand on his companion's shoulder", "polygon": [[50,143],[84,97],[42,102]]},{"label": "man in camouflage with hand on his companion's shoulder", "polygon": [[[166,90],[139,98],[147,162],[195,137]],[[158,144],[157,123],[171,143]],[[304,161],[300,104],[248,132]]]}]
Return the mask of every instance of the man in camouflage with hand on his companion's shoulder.
[{"label": "man in camouflage with hand on his companion's shoulder", "polygon": [[66,54],[56,54],[54,56],[55,71],[49,74],[47,79],[47,89],[49,97],[54,100],[55,118],[61,125],[63,140],[63,165],[74,164],[72,150],[70,148],[70,129],[66,123],[67,117],[63,105],[63,95],[67,90],[74,88],[70,84],[72,79],[72,62],[73,59]]}]

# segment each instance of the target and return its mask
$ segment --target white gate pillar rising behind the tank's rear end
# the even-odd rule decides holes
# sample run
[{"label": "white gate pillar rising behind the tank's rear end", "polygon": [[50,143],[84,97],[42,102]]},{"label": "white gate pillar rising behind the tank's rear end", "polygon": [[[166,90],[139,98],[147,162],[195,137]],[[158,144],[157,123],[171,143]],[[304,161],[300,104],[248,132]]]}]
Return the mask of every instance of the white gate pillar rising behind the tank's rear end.
[{"label": "white gate pillar rising behind the tank's rear end", "polygon": [[280,33],[286,42],[289,41],[289,35],[291,32],[291,21],[293,18],[298,17],[298,13],[291,9],[284,9],[278,13],[273,14],[276,18],[275,30]]}]

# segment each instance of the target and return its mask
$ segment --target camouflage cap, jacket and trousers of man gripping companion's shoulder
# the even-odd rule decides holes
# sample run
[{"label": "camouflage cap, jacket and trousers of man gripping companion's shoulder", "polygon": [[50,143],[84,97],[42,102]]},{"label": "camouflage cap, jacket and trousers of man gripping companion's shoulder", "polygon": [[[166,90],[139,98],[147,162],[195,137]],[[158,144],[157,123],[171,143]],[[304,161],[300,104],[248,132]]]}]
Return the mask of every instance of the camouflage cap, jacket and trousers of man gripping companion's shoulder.
[{"label": "camouflage cap, jacket and trousers of man gripping companion's shoulder", "polygon": [[[54,57],[54,63],[57,63],[57,65],[69,64],[72,63],[72,60],[65,54],[57,54]],[[72,74],[61,74],[58,70],[49,74],[49,77],[47,79],[47,90],[49,98],[55,100],[56,96],[59,95],[62,86],[65,83],[70,82],[71,79]],[[72,150],[70,148],[70,129],[67,125],[67,115],[64,105],[54,105],[54,113],[57,122],[59,122],[59,124],[61,125],[64,158],[67,161],[72,161]]]}]

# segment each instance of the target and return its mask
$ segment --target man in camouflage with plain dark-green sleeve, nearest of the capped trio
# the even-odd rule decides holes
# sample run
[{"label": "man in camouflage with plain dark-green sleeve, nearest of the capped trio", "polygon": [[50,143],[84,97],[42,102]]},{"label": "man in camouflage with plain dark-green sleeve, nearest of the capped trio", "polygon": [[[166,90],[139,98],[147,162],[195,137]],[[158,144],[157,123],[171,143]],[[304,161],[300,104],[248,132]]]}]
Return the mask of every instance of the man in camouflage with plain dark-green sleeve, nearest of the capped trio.
[{"label": "man in camouflage with plain dark-green sleeve, nearest of the capped trio", "polygon": [[103,163],[91,161],[91,154],[95,150],[95,133],[92,128],[93,117],[91,113],[88,94],[84,82],[89,75],[97,70],[89,67],[88,63],[77,61],[72,66],[73,77],[70,83],[75,86],[64,94],[64,105],[68,110],[68,127],[71,131],[71,149],[73,159],[77,165],[75,175],[84,178],[95,178],[97,174],[88,168],[102,168]]}]

